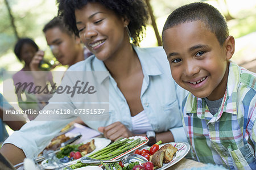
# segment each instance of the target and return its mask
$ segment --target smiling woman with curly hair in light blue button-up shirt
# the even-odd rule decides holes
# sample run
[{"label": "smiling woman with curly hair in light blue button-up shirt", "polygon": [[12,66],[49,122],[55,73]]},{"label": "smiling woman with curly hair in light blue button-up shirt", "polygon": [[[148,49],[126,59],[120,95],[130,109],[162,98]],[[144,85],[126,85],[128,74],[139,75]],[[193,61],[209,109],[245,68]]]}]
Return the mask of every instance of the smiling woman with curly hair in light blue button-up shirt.
[{"label": "smiling woman with curly hair in light blue button-up shirt", "polygon": [[[171,78],[170,66],[162,47],[139,48],[138,46],[148,20],[144,2],[142,0],[59,0],[58,2],[59,15],[63,17],[64,23],[94,54],[85,61],[69,67],[69,71],[109,71],[110,117],[107,121],[89,121],[86,115],[81,116],[85,124],[90,128],[98,129],[112,141],[134,135],[146,136],[146,133],[152,134],[150,135],[152,143],[160,140],[186,141],[179,114],[179,104],[185,91],[179,89],[178,92],[179,87]],[[57,96],[57,94],[53,95],[45,110],[61,109],[50,104],[57,99],[55,98]],[[74,102],[71,97],[66,99],[72,104],[63,105],[63,108],[79,109],[79,102]],[[23,153],[20,150],[23,158],[25,155],[31,158],[35,153],[42,151],[47,142],[76,116],[72,114],[60,117],[65,121],[44,121],[34,124],[33,121],[29,122],[5,141],[2,152],[6,150],[4,155],[13,163],[18,163],[18,159],[7,156],[7,152],[10,154],[7,149],[16,146],[24,151]],[[39,128],[32,129],[30,128],[32,126]],[[35,130],[38,133],[35,133]],[[31,133],[34,135],[30,135]],[[24,134],[23,138],[22,134]]]}]

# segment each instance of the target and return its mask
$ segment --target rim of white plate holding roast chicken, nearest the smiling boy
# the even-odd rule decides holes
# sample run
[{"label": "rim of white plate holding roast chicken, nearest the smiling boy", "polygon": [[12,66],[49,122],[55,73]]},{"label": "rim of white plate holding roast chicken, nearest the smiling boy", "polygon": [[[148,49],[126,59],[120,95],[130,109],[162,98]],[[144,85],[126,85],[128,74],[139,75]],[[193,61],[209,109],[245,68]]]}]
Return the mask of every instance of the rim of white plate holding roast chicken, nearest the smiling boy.
[{"label": "rim of white plate holding roast chicken, nearest the smiling boy", "polygon": [[[162,147],[166,145],[167,143],[163,143],[159,145],[159,147]],[[183,159],[189,152],[190,146],[186,142],[170,142],[170,144],[177,148],[177,152],[174,155],[174,158],[172,158],[172,161],[168,164],[163,164],[163,167],[159,168],[158,170],[163,170],[171,167],[172,165],[179,162],[181,159]]]}]

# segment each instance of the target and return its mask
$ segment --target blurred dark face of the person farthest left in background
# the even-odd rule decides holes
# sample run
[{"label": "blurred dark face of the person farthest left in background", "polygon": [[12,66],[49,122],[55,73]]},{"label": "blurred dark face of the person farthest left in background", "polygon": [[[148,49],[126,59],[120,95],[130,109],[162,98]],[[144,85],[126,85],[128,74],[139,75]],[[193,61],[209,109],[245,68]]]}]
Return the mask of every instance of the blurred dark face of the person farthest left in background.
[{"label": "blurred dark face of the person farthest left in background", "polygon": [[36,48],[31,44],[23,44],[20,50],[20,59],[22,59],[26,65],[29,65],[32,58],[35,56]]}]

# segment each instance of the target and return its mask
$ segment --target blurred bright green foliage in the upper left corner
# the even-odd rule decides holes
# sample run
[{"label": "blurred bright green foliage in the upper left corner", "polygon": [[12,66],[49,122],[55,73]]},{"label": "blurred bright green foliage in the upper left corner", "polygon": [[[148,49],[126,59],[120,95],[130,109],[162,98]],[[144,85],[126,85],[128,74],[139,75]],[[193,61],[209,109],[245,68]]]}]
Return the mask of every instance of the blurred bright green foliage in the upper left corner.
[{"label": "blurred bright green foliage in the upper left corner", "polygon": [[[5,1],[9,4],[13,23]],[[57,14],[55,1],[52,0],[0,0],[0,4],[0,56],[13,50],[18,39],[15,29],[19,37],[40,39],[43,37],[43,25]],[[14,25],[16,26],[15,29]]]}]

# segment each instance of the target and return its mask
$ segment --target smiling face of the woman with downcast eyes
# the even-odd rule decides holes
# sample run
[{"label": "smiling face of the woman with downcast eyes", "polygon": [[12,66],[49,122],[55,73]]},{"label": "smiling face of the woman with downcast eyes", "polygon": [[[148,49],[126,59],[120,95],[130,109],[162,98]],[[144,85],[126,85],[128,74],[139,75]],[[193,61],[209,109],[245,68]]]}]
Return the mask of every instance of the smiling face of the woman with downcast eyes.
[{"label": "smiling face of the woman with downcast eyes", "polygon": [[129,44],[125,29],[129,22],[100,3],[88,3],[75,16],[81,41],[101,61],[118,56]]}]

